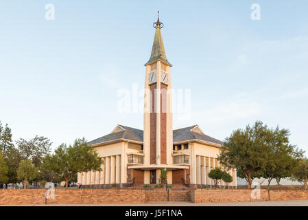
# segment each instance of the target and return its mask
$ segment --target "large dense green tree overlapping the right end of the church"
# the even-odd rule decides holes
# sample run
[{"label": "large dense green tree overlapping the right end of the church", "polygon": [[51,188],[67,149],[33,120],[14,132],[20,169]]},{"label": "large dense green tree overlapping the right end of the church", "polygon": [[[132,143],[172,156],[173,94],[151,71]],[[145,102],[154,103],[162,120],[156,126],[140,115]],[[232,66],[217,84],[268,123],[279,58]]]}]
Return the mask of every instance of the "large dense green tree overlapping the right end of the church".
[{"label": "large dense green tree overlapping the right end of the church", "polygon": [[265,167],[268,161],[268,127],[262,122],[255,122],[254,126],[246,126],[245,130],[237,129],[227,137],[218,159],[226,168],[242,170],[251,188],[252,175]]}]

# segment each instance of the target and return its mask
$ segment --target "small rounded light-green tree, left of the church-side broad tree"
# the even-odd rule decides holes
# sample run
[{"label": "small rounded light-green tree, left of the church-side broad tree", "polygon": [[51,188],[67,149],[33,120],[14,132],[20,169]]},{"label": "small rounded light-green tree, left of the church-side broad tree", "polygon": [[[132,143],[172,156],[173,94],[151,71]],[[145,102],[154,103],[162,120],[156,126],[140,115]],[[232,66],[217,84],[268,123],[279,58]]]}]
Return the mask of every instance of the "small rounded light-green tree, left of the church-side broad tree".
[{"label": "small rounded light-green tree, left of the church-side broad tree", "polygon": [[32,164],[31,160],[23,159],[17,168],[17,178],[23,181],[23,187],[29,188],[29,181],[38,176],[37,168]]}]

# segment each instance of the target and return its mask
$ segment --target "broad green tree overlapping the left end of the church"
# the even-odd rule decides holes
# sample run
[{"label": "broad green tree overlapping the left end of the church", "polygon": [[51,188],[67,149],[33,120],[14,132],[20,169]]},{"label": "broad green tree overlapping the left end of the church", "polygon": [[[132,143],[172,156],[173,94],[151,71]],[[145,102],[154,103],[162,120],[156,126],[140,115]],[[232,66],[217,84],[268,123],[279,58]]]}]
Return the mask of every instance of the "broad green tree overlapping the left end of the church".
[{"label": "broad green tree overlapping the left end of the church", "polygon": [[102,170],[102,157],[88,145],[84,138],[75,140],[73,146],[61,144],[54,155],[47,155],[44,160],[44,170],[52,171],[65,181],[65,188],[69,181],[80,172]]}]

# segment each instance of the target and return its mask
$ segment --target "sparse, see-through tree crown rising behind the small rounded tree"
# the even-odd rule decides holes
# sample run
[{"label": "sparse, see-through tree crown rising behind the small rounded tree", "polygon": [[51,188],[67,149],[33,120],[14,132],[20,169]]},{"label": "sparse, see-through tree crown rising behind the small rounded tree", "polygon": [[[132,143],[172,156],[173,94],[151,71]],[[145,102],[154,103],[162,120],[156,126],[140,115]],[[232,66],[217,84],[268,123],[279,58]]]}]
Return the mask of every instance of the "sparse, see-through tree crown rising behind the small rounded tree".
[{"label": "sparse, see-through tree crown rising behind the small rounded tree", "polygon": [[52,142],[47,137],[36,135],[31,140],[20,138],[16,141],[22,159],[30,159],[34,166],[39,167],[43,158],[50,153]]}]

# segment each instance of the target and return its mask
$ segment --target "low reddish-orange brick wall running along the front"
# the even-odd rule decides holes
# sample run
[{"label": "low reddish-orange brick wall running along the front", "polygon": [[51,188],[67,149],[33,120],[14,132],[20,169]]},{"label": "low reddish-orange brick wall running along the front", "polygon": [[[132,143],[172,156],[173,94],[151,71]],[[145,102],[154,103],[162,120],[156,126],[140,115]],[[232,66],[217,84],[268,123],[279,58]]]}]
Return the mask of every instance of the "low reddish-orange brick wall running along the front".
[{"label": "low reddish-orange brick wall running along the front", "polygon": [[[54,199],[45,199],[45,189],[0,190],[0,205],[31,204],[99,204],[99,203],[147,203],[167,201],[166,190],[139,189],[56,189]],[[268,190],[191,189],[170,190],[169,201],[235,202],[268,201]],[[252,197],[256,198],[253,199]],[[308,190],[270,190],[271,200],[308,199]]]}]

